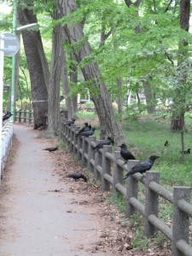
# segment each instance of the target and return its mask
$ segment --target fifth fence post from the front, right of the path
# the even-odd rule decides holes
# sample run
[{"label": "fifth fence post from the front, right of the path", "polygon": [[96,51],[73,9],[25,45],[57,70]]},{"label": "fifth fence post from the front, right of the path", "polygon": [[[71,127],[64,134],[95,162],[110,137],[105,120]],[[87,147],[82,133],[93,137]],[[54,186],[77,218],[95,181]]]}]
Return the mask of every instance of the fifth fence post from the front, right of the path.
[{"label": "fifth fence post from the front, right of the path", "polygon": [[106,173],[108,173],[109,175],[111,173],[111,162],[105,156],[106,152],[112,153],[112,147],[109,145],[104,145],[102,147],[102,190],[103,191],[110,190],[110,183],[104,177]]}]

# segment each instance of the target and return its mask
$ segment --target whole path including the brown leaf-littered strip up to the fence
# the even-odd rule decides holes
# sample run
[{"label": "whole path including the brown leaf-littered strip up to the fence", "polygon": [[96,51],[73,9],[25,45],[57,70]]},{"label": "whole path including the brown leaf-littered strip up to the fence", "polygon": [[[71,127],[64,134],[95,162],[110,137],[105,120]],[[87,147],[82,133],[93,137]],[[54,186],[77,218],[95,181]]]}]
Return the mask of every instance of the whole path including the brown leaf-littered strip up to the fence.
[{"label": "whole path including the brown leaf-littered strip up to the fence", "polygon": [[[41,131],[15,125],[14,146],[0,186],[0,256],[169,255],[132,248],[136,229],[108,205],[72,154],[55,146]],[[62,176],[84,172],[88,183]]]}]

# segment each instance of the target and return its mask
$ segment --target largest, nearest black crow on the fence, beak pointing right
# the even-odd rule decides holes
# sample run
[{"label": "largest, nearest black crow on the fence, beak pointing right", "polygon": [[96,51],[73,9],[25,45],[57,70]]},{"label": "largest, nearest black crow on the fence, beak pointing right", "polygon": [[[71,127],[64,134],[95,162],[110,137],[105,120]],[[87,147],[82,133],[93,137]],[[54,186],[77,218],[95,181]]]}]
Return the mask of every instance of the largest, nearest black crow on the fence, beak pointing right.
[{"label": "largest, nearest black crow on the fence, beak pointing right", "polygon": [[137,166],[132,167],[132,170],[125,175],[124,179],[129,177],[131,174],[134,174],[137,172],[143,173],[150,170],[151,167],[154,165],[154,160],[159,157],[160,156],[158,155],[154,155],[154,154],[151,155],[148,160],[144,160],[143,162],[139,163]]}]

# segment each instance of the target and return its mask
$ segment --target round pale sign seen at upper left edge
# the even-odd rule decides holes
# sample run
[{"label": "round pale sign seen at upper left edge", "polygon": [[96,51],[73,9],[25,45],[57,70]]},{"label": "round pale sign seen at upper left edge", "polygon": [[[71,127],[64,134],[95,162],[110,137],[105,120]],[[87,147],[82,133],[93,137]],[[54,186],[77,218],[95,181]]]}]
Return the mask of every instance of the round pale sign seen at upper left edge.
[{"label": "round pale sign seen at upper left edge", "polygon": [[13,56],[20,49],[19,39],[11,33],[3,33],[4,36],[4,56]]}]

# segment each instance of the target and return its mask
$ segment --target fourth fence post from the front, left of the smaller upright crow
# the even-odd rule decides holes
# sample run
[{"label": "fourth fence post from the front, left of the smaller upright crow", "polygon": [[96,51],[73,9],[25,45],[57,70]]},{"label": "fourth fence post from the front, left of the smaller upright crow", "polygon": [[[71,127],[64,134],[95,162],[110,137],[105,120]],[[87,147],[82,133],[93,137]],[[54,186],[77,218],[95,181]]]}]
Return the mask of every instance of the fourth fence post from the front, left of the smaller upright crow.
[{"label": "fourth fence post from the front, left of the smaller upright crow", "polygon": [[120,152],[114,151],[114,163],[113,163],[113,192],[117,192],[115,185],[117,183],[123,184],[123,169],[117,164],[117,160],[120,159]]}]

